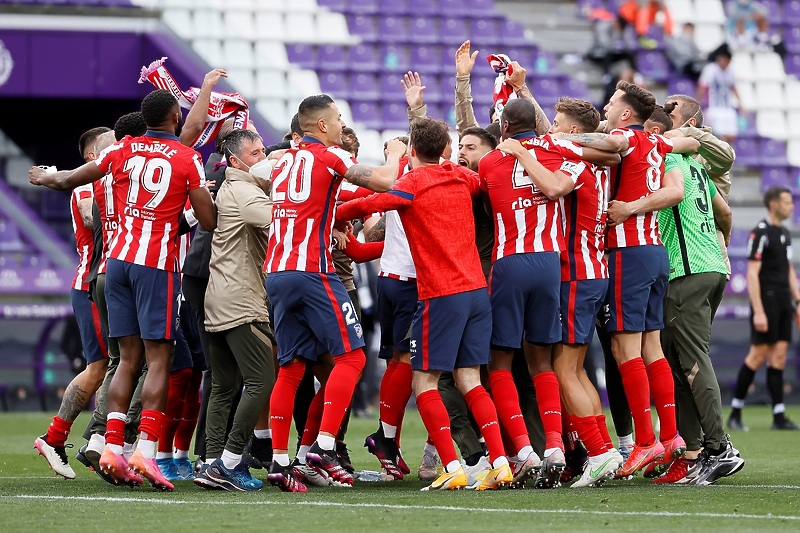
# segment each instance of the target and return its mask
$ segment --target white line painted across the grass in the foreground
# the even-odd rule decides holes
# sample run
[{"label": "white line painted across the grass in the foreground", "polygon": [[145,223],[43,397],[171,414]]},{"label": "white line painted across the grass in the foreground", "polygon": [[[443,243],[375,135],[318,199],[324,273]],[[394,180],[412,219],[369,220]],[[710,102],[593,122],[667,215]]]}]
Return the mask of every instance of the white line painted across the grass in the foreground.
[{"label": "white line painted across the grass in the foreground", "polygon": [[[97,501],[108,503],[156,503],[163,505],[187,504],[194,505],[197,501],[171,500],[166,498],[120,498],[113,496],[40,496],[38,494],[17,494],[6,498],[25,500],[72,500],[72,501]],[[697,517],[697,518],[745,518],[752,520],[798,520],[800,515],[773,515],[773,514],[738,514],[738,513],[689,513],[673,511],[590,511],[583,509],[498,509],[490,507],[457,507],[454,505],[383,505],[379,503],[337,503],[337,502],[309,502],[309,501],[209,501],[202,505],[305,505],[309,507],[356,507],[373,509],[422,510],[422,511],[456,511],[477,513],[518,513],[518,514],[580,514],[580,515],[612,515],[612,516],[653,516],[653,517]]]}]

